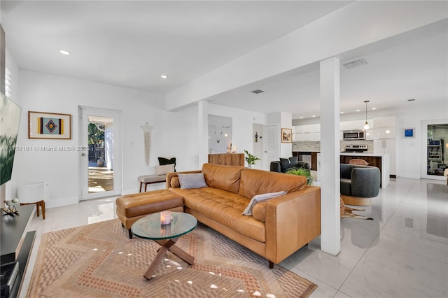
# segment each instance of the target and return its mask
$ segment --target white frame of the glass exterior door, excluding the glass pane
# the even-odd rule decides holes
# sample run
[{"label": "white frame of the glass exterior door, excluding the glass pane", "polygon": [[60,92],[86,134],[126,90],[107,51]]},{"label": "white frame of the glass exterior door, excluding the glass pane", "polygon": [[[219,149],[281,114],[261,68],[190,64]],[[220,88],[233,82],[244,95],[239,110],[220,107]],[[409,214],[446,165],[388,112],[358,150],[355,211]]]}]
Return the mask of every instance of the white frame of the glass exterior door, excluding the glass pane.
[{"label": "white frame of the glass exterior door, excluding the glass pane", "polygon": [[88,183],[88,152],[79,152],[79,198],[80,201],[86,199],[97,199],[100,197],[111,197],[123,194],[123,125],[122,111],[110,110],[106,108],[92,108],[88,106],[78,106],[79,123],[79,146],[87,148],[88,116],[113,118],[113,190],[106,192],[94,192],[89,194]]}]

